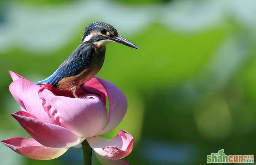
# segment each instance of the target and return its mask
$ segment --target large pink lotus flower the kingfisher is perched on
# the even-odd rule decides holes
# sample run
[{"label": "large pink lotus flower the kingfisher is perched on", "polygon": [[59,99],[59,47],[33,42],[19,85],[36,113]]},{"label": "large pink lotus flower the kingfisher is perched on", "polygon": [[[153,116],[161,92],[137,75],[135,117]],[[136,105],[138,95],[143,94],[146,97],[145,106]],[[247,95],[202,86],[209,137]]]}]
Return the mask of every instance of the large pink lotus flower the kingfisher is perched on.
[{"label": "large pink lotus flower the kingfisher is perched on", "polygon": [[113,139],[99,136],[117,127],[126,114],[126,97],[119,88],[93,78],[83,85],[85,90],[79,89],[76,99],[53,86],[37,86],[17,73],[10,75],[9,90],[21,109],[11,115],[32,138],[2,140],[7,147],[28,158],[48,160],[87,140],[102,164],[128,164],[122,159],[133,147],[134,138],[128,132],[119,130]]}]

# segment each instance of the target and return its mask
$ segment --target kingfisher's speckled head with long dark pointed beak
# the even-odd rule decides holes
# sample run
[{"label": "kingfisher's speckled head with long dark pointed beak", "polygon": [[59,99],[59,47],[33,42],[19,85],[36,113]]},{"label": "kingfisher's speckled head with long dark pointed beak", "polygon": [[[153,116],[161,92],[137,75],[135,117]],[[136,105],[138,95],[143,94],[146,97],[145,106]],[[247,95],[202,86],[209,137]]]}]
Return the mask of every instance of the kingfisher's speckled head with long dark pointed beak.
[{"label": "kingfisher's speckled head with long dark pointed beak", "polygon": [[115,27],[101,21],[93,22],[85,28],[81,43],[84,42],[93,43],[97,46],[106,46],[109,42],[119,42],[120,44],[140,49],[137,45],[119,35]]}]

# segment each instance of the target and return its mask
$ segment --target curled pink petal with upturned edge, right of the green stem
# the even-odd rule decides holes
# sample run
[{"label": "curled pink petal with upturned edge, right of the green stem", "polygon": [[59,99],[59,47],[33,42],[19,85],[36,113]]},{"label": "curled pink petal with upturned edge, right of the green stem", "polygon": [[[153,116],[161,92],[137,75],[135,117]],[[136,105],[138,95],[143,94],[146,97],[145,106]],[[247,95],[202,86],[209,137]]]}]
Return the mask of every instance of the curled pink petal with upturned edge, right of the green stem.
[{"label": "curled pink petal with upturned edge, right of the green stem", "polygon": [[117,160],[126,157],[132,152],[134,138],[128,132],[119,130],[117,136],[113,139],[95,136],[88,138],[87,141],[100,156]]}]

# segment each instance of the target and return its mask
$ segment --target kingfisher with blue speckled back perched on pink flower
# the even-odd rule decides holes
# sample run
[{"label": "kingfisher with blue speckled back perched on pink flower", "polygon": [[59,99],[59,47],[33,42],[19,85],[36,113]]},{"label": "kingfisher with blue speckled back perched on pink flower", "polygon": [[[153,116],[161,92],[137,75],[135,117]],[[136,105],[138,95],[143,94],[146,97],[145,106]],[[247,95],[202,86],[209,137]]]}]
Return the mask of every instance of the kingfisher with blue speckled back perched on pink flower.
[{"label": "kingfisher with blue speckled back perched on pink flower", "polygon": [[131,48],[140,49],[137,45],[118,34],[112,25],[96,21],[85,27],[81,44],[71,55],[52,73],[37,85],[50,84],[59,90],[69,90],[75,98],[76,91],[86,81],[93,78],[102,68],[106,44],[118,42]]}]

